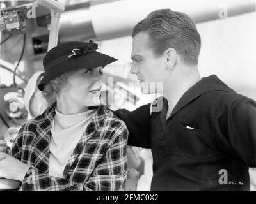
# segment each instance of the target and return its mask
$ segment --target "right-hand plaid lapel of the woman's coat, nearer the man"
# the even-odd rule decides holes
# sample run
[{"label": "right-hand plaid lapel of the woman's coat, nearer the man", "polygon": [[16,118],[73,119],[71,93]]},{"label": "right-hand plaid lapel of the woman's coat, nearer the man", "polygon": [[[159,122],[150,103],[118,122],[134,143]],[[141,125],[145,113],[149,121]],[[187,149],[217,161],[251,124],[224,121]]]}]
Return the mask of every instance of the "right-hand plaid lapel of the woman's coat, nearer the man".
[{"label": "right-hand plaid lapel of the woman's coat, nearer the man", "polygon": [[[82,152],[84,152],[83,150],[86,147],[86,143],[92,138],[95,131],[97,131],[97,129],[100,126],[102,126],[103,119],[108,114],[107,112],[108,111],[106,109],[106,106],[100,105],[99,108],[97,108],[97,110],[93,114],[92,122],[90,122],[88,124],[87,128],[85,129],[85,131],[83,133],[83,136],[81,136],[79,142],[76,145],[76,148],[74,149],[74,152],[68,159],[68,163],[65,166],[64,176],[67,179],[72,179],[72,175],[74,175],[74,173],[76,172],[76,166],[79,162],[79,155]],[[90,170],[88,170],[88,171],[90,171]],[[84,179],[82,179],[82,180],[87,180],[91,173],[92,172],[84,173],[83,174]]]}]

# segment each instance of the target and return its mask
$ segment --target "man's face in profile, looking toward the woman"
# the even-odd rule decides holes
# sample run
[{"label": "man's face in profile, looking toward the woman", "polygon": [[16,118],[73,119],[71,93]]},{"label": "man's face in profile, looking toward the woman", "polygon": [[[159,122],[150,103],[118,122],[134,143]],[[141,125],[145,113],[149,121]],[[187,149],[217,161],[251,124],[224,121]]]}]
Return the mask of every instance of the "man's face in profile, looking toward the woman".
[{"label": "man's face in profile, looking toward the woman", "polygon": [[130,72],[137,75],[143,94],[159,92],[157,91],[157,82],[164,83],[166,80],[166,75],[164,75],[164,56],[156,57],[154,55],[147,33],[140,32],[134,36],[131,59]]}]

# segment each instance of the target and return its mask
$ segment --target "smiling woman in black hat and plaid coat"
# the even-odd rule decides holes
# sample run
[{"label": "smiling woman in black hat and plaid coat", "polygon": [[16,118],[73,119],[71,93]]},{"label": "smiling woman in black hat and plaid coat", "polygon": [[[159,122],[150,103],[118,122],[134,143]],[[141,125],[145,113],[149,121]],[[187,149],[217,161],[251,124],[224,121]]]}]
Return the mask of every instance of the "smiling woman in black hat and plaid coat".
[{"label": "smiling woman in black hat and plaid coat", "polygon": [[67,42],[45,55],[38,89],[52,105],[0,153],[0,177],[20,180],[20,191],[124,190],[128,131],[100,103],[102,68],[116,59],[96,50]]}]

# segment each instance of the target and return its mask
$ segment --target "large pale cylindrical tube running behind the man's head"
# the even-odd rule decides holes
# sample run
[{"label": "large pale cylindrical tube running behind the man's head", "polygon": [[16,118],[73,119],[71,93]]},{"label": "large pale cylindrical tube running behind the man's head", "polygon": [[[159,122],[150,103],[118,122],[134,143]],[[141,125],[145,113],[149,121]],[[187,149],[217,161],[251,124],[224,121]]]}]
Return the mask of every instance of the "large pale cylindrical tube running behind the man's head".
[{"label": "large pale cylindrical tube running behind the man's head", "polygon": [[188,14],[196,23],[255,11],[255,0],[122,0],[66,11],[60,19],[60,40],[106,40],[131,34],[148,13],[170,8]]}]

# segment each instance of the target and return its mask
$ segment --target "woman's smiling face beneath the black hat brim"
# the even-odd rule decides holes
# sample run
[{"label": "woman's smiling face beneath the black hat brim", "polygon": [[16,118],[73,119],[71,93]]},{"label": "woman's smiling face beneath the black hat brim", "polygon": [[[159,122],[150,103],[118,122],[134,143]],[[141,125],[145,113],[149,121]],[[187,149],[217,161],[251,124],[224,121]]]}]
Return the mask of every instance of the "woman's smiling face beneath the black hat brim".
[{"label": "woman's smiling face beneath the black hat brim", "polygon": [[74,71],[58,94],[74,106],[97,106],[100,104],[101,76],[102,67]]}]

